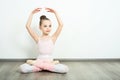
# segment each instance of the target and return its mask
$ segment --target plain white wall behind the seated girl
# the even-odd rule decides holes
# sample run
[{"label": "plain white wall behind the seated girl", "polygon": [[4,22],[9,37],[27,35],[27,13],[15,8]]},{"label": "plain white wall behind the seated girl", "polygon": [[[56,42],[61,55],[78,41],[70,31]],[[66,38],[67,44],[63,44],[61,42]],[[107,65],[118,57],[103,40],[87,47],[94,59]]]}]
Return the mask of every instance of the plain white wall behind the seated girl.
[{"label": "plain white wall behind the seated girl", "polygon": [[[36,43],[25,23],[31,10],[51,7],[58,11],[64,28],[53,52],[55,58],[120,58],[120,0],[1,0],[0,59],[35,58]],[[39,16],[46,14],[57,24],[53,14],[34,16],[32,28],[38,29]],[[53,33],[52,32],[52,33]]]}]

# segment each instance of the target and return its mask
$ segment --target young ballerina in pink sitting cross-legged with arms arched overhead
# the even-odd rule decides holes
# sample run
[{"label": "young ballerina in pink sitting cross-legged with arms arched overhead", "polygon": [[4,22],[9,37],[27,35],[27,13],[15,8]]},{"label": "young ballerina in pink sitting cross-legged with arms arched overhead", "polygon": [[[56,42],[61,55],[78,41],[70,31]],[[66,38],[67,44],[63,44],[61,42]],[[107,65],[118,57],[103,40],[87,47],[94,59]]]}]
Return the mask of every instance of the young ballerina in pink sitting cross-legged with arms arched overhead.
[{"label": "young ballerina in pink sitting cross-legged with arms arched overhead", "polygon": [[45,8],[47,12],[54,13],[58,22],[58,28],[52,36],[49,35],[52,29],[52,24],[50,19],[48,19],[45,15],[42,15],[40,17],[40,22],[39,22],[39,28],[42,31],[41,36],[37,35],[30,27],[33,15],[35,13],[40,12],[41,9],[42,8],[34,9],[31,12],[26,24],[26,28],[29,34],[38,45],[39,56],[37,57],[36,60],[27,60],[26,63],[20,65],[20,71],[22,73],[29,73],[29,72],[39,72],[42,70],[48,70],[51,72],[67,73],[69,70],[68,67],[66,65],[60,64],[59,61],[54,61],[52,58],[52,51],[54,48],[54,44],[63,27],[62,21],[60,20],[57,12],[51,8]]}]

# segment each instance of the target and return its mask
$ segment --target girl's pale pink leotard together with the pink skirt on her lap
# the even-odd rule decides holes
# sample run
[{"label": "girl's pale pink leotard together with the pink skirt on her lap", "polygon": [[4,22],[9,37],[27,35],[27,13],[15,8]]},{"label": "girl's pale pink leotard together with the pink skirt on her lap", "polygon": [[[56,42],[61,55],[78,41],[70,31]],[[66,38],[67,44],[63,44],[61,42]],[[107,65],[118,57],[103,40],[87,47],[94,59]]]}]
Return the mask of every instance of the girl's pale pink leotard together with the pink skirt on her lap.
[{"label": "girl's pale pink leotard together with the pink skirt on her lap", "polygon": [[52,58],[52,52],[54,48],[54,43],[51,39],[49,38],[41,38],[38,41],[38,49],[39,49],[39,56],[37,57],[37,61],[35,62],[34,66],[41,68],[41,69],[52,69],[53,61]]}]

